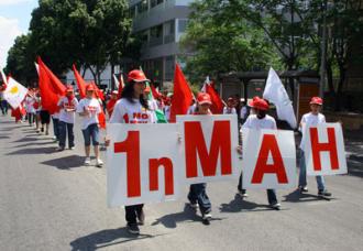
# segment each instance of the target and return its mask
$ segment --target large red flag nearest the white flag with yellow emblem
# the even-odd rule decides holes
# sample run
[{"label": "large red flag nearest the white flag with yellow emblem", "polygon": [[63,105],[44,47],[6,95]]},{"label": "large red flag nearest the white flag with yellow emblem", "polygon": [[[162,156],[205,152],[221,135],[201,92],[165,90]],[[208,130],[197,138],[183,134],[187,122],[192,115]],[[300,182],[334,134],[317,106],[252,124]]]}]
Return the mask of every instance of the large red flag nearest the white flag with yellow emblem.
[{"label": "large red flag nearest the white flag with yellow emblem", "polygon": [[[42,108],[51,114],[58,112],[59,96],[64,96],[66,87],[57,79],[44,65],[41,57],[37,58],[40,65],[38,81],[42,97]],[[63,88],[64,90],[63,90]]]}]

